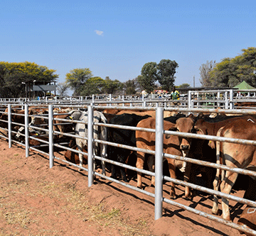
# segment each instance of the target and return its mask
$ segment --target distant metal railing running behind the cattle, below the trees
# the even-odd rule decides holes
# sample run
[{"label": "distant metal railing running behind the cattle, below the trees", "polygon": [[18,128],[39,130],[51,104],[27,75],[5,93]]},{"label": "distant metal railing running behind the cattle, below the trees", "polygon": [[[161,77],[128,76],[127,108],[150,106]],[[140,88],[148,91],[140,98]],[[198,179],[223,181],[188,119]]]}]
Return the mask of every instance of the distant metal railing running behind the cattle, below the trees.
[{"label": "distant metal railing running behind the cattle, below the trees", "polygon": [[108,106],[164,106],[174,107],[174,102],[179,106],[188,108],[224,108],[233,109],[235,103],[244,101],[255,102],[256,90],[254,89],[203,89],[188,91],[181,94],[178,101],[171,100],[170,94],[149,94],[140,95],[113,95],[113,94],[92,94],[90,96],[46,96],[33,98],[0,98],[1,103],[38,103],[38,104],[73,104],[107,103]]}]

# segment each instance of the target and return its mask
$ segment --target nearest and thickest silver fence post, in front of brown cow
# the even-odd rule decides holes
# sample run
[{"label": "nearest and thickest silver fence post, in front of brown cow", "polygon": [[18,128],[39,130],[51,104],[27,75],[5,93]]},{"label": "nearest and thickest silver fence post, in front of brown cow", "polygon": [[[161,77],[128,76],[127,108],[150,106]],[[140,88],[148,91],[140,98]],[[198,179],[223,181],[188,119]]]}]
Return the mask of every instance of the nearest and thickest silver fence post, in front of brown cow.
[{"label": "nearest and thickest silver fence post, in front of brown cow", "polygon": [[162,217],[163,207],[163,142],[164,110],[156,108],[156,155],[155,155],[155,220]]}]

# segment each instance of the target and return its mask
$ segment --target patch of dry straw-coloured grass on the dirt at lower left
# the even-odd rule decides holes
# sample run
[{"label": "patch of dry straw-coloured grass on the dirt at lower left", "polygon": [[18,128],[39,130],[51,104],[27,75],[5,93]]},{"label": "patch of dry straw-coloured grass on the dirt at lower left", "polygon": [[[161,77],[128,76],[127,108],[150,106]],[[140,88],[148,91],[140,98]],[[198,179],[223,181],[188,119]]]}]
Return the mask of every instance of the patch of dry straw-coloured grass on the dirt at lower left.
[{"label": "patch of dry straw-coloured grass on the dirt at lower left", "polygon": [[[120,209],[112,208],[111,210],[106,210],[104,203],[90,202],[87,198],[87,193],[75,189],[75,184],[59,184],[46,181],[38,181],[36,189],[30,186],[28,181],[22,179],[10,181],[5,186],[2,186],[0,189],[0,200],[2,198],[5,201],[0,201],[0,220],[5,220],[7,224],[16,224],[18,227],[28,229],[31,223],[36,223],[36,220],[33,220],[33,216],[40,214],[43,216],[45,213],[38,209],[35,209],[36,212],[33,212],[33,208],[26,208],[17,202],[8,201],[8,196],[9,194],[35,196],[38,193],[41,194],[42,198],[58,198],[65,202],[61,210],[52,210],[55,217],[66,211],[73,213],[74,217],[80,218],[82,221],[97,223],[99,230],[103,227],[104,230],[110,228],[118,229],[120,235],[149,235],[143,233],[146,229],[146,222],[144,220],[139,220],[136,224],[131,225],[129,219],[122,218]],[[55,232],[41,231],[43,235],[61,235],[61,232],[58,230]],[[2,229],[1,234],[6,235]],[[12,235],[15,235],[15,233]]]}]

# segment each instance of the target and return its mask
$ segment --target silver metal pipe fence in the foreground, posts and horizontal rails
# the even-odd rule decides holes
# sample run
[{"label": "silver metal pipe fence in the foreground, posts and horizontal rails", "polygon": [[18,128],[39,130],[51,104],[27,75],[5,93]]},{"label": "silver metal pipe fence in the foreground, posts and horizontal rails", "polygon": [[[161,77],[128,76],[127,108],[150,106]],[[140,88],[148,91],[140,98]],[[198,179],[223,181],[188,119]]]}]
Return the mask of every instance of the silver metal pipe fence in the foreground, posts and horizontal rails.
[{"label": "silver metal pipe fence in the foreground, posts and horizontal rails", "polygon": [[[215,137],[215,136],[210,136],[210,135],[197,135],[197,134],[193,134],[193,133],[179,133],[179,132],[164,130],[164,128],[163,128],[164,127],[164,125],[163,125],[164,124],[164,121],[163,121],[164,120],[163,119],[164,118],[164,116],[163,116],[164,111],[179,111],[179,112],[183,112],[183,113],[184,112],[185,113],[200,113],[200,112],[216,113],[216,112],[218,112],[218,113],[229,113],[229,114],[234,114],[234,113],[238,114],[238,113],[240,113],[240,114],[251,114],[251,115],[255,115],[256,111],[233,110],[233,109],[232,110],[225,110],[225,109],[219,110],[219,109],[213,109],[213,108],[210,108],[210,109],[182,108],[182,107],[168,108],[168,107],[165,107],[165,106],[155,106],[154,108],[143,107],[143,106],[139,107],[139,109],[145,110],[145,111],[152,110],[152,109],[156,111],[156,128],[154,130],[152,130],[152,129],[146,129],[146,128],[136,128],[136,127],[131,127],[131,126],[93,123],[93,120],[92,120],[93,115],[92,114],[93,114],[94,109],[98,109],[98,108],[101,108],[101,109],[120,108],[120,106],[111,106],[110,107],[110,106],[99,106],[98,104],[97,105],[95,105],[95,104],[88,105],[88,104],[85,103],[83,105],[83,108],[87,108],[87,113],[88,113],[88,123],[87,123],[88,136],[85,137],[87,139],[87,152],[80,152],[80,151],[72,150],[70,147],[67,147],[67,143],[56,142],[56,139],[54,138],[54,135],[65,135],[67,137],[78,137],[74,133],[61,133],[61,132],[58,132],[58,131],[53,131],[53,126],[54,126],[53,120],[59,120],[59,121],[63,121],[64,123],[67,123],[67,120],[58,118],[58,115],[59,115],[58,113],[53,113],[53,108],[59,108],[59,107],[62,107],[62,106],[66,107],[66,105],[47,104],[46,108],[48,110],[48,114],[47,115],[40,115],[40,116],[39,115],[36,115],[36,116],[35,115],[28,115],[28,108],[30,106],[32,106],[31,104],[30,105],[23,104],[23,105],[18,107],[19,109],[24,108],[24,114],[12,113],[11,108],[13,106],[14,106],[14,104],[9,103],[7,105],[7,108],[8,108],[7,112],[4,111],[4,107],[1,109],[1,113],[6,114],[8,116],[8,119],[7,120],[0,120],[1,123],[6,124],[6,125],[4,125],[6,128],[2,128],[2,130],[5,130],[6,133],[7,133],[7,135],[0,135],[0,137],[6,138],[9,142],[9,147],[11,148],[12,142],[18,142],[18,141],[13,139],[13,136],[18,133],[17,131],[14,130],[14,128],[13,128],[14,125],[23,126],[25,128],[25,133],[22,135],[24,137],[24,143],[21,143],[21,142],[18,142],[18,143],[25,147],[26,157],[29,156],[29,150],[30,149],[31,150],[36,150],[38,152],[41,152],[43,154],[48,155],[50,168],[52,168],[54,166],[54,160],[58,159],[61,162],[71,164],[74,167],[78,167],[79,169],[85,169],[85,171],[87,172],[87,175],[88,175],[88,186],[89,187],[92,186],[92,184],[93,184],[93,179],[94,179],[93,176],[97,175],[97,176],[100,176],[102,178],[113,181],[115,183],[118,183],[122,186],[126,186],[129,189],[133,189],[135,191],[139,191],[140,193],[144,193],[147,196],[154,197],[154,199],[155,199],[155,206],[154,206],[155,215],[154,215],[154,218],[156,220],[161,218],[161,216],[162,216],[162,205],[163,205],[163,202],[165,202],[165,203],[169,203],[173,206],[177,206],[179,208],[182,208],[184,210],[189,210],[192,213],[195,213],[197,215],[201,215],[203,217],[209,218],[210,220],[214,220],[218,223],[223,223],[224,225],[228,225],[228,226],[233,227],[237,230],[242,230],[244,232],[249,232],[252,235],[256,235],[255,230],[250,230],[248,228],[242,227],[242,226],[237,225],[235,223],[232,223],[230,221],[224,220],[223,218],[220,218],[218,216],[211,215],[211,214],[203,212],[201,210],[196,210],[196,209],[191,208],[189,206],[186,206],[186,205],[183,205],[183,204],[178,203],[176,201],[173,201],[169,198],[164,198],[163,197],[163,181],[166,180],[166,181],[174,182],[175,184],[180,184],[181,186],[188,186],[192,189],[196,189],[196,190],[203,191],[203,192],[210,193],[210,194],[215,194],[215,195],[220,196],[220,197],[225,197],[225,198],[228,198],[230,200],[237,201],[239,203],[244,203],[244,204],[247,204],[249,206],[252,206],[252,207],[256,208],[256,203],[254,201],[249,201],[245,198],[239,198],[237,196],[232,196],[232,195],[229,195],[229,194],[221,193],[220,191],[214,191],[212,189],[208,189],[208,188],[203,187],[203,186],[197,186],[196,184],[190,184],[190,183],[178,180],[178,179],[172,179],[168,176],[163,176],[163,157],[172,158],[172,159],[179,159],[179,160],[183,160],[185,162],[200,164],[200,165],[203,165],[203,166],[206,166],[206,167],[221,168],[221,169],[229,170],[231,172],[237,172],[239,174],[247,174],[247,175],[250,175],[250,176],[256,176],[256,172],[245,170],[245,169],[239,169],[239,168],[231,169],[229,167],[226,167],[225,165],[219,165],[219,164],[210,163],[210,162],[198,161],[196,159],[191,159],[191,158],[188,158],[188,157],[180,157],[180,156],[176,156],[176,155],[172,155],[172,154],[163,153],[163,135],[164,134],[178,135],[178,136],[181,136],[181,137],[196,137],[196,138],[200,138],[200,139],[203,139],[203,140],[219,140],[219,141],[235,142],[235,143],[246,144],[246,145],[256,145],[256,141],[254,141],[254,140],[240,140],[240,139],[232,139],[232,138],[225,138],[225,137]],[[72,106],[73,108],[78,108],[78,109],[80,109],[82,107],[81,105],[80,106],[69,105],[69,106]],[[122,106],[122,108],[125,110],[125,109],[131,109],[131,108],[135,109],[137,107]],[[13,122],[11,120],[12,116],[21,116],[21,117],[23,117],[24,118],[24,123],[15,123],[15,122]],[[56,116],[56,118],[54,116]],[[47,122],[48,128],[42,128],[41,126],[35,126],[35,125],[30,125],[29,124],[29,120],[31,118],[42,118],[42,117],[45,120],[48,120],[48,122]],[[73,121],[68,121],[68,122],[69,123],[79,123],[80,121],[73,120]],[[148,132],[154,132],[154,133],[156,133],[156,145],[155,145],[156,150],[155,151],[141,150],[137,147],[130,147],[130,146],[127,146],[127,145],[120,145],[120,144],[112,143],[112,142],[109,142],[109,141],[93,140],[93,138],[92,138],[92,126],[93,125],[102,125],[102,126],[106,126],[106,127],[123,128],[123,129],[128,129],[128,130],[146,130]],[[47,136],[46,136],[47,137],[46,140],[42,140],[42,139],[39,139],[38,137],[33,137],[33,136],[29,135],[29,129],[30,128],[33,128],[35,130],[42,130],[42,131],[48,133]],[[41,142],[42,145],[48,146],[48,152],[44,152],[44,151],[38,149],[37,146],[36,147],[31,146],[30,147],[29,146],[29,139],[38,140],[38,142]],[[106,159],[106,158],[102,158],[102,157],[93,155],[93,152],[92,152],[93,142],[99,142],[99,143],[104,143],[104,144],[107,144],[107,145],[122,147],[122,148],[129,149],[129,150],[143,151],[143,152],[146,152],[146,153],[149,153],[149,154],[154,154],[155,155],[155,173],[149,172],[149,171],[144,170],[144,169],[137,169],[136,167],[131,167],[128,164],[122,164],[122,163],[119,163],[119,162],[114,162],[110,159]],[[54,147],[60,147],[63,150],[72,150],[73,152],[82,153],[84,155],[87,155],[87,159],[88,159],[87,168],[80,167],[76,164],[73,164],[71,162],[66,161],[65,159],[61,159],[59,157],[56,157],[55,153],[54,153]],[[154,193],[149,193],[148,191],[145,191],[143,189],[138,189],[138,188],[136,188],[136,187],[134,187],[130,184],[126,184],[122,181],[118,181],[117,179],[113,179],[113,178],[110,178],[109,176],[105,176],[105,175],[102,175],[100,173],[94,172],[93,168],[92,168],[93,159],[99,159],[101,161],[105,161],[105,162],[108,162],[110,164],[115,164],[119,167],[125,167],[127,169],[132,169],[136,172],[142,172],[142,174],[155,176],[155,192]]]}]

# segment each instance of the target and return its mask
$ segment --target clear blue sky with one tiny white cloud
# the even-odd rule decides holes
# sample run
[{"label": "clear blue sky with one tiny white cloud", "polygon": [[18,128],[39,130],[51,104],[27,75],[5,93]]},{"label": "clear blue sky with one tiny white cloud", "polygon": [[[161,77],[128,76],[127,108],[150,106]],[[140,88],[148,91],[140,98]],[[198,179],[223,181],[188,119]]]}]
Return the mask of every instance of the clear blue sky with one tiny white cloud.
[{"label": "clear blue sky with one tiny white cloud", "polygon": [[256,1],[0,1],[0,61],[59,74],[90,68],[125,82],[147,62],[175,60],[176,86],[199,67],[256,47]]}]

